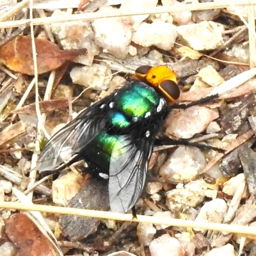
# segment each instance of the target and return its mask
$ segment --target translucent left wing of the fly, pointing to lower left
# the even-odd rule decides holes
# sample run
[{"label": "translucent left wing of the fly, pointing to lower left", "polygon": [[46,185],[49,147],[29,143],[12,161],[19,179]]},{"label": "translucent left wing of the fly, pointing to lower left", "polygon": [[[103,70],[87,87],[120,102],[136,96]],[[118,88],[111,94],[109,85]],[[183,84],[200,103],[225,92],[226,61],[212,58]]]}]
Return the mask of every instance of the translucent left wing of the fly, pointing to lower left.
[{"label": "translucent left wing of the fly, pointing to lower left", "polygon": [[71,161],[106,125],[106,108],[111,95],[84,109],[79,115],[56,132],[42,150],[36,169],[39,172],[58,170],[65,161]]}]

